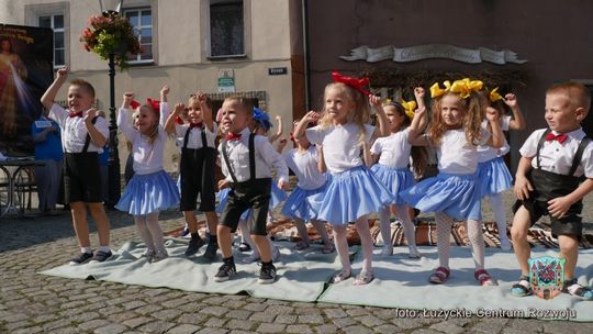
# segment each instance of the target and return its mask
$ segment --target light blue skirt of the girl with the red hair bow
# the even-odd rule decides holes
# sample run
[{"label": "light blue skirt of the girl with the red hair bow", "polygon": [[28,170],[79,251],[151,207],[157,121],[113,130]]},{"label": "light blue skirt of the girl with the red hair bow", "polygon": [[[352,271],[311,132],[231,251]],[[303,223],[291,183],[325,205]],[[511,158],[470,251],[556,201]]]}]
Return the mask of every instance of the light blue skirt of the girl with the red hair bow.
[{"label": "light blue skirt of the girl with the red hair bow", "polygon": [[345,225],[393,202],[393,194],[366,166],[335,174],[327,185],[317,218]]}]

